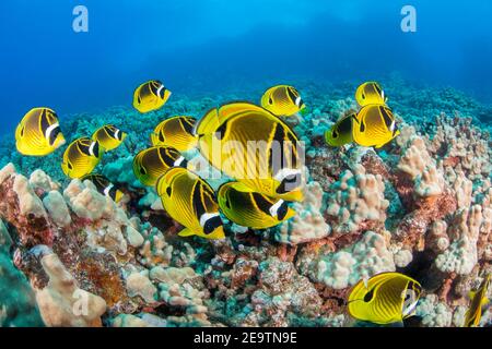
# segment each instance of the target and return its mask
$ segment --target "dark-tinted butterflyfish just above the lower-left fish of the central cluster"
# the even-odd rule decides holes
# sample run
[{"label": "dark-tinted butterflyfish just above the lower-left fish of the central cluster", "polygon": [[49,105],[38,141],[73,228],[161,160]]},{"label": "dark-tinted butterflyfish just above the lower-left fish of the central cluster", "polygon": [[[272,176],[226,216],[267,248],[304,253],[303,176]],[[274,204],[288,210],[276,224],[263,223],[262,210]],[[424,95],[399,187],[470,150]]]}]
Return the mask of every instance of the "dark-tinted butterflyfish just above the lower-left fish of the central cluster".
[{"label": "dark-tinted butterflyfish just above the lower-left fish of the central cluster", "polygon": [[154,186],[167,169],[186,165],[186,159],[178,151],[160,145],[137,154],[133,159],[133,173],[143,185]]}]

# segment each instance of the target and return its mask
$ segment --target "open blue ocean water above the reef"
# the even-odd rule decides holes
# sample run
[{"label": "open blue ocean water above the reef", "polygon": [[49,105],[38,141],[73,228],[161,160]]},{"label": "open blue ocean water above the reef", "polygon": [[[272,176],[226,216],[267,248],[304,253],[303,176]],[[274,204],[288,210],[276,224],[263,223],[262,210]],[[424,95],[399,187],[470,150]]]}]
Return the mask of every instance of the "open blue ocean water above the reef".
[{"label": "open blue ocean water above the reef", "polygon": [[[403,33],[401,9],[417,10]],[[89,32],[72,28],[89,10]],[[488,0],[15,0],[0,2],[0,133],[32,107],[130,105],[161,79],[175,94],[265,81],[377,80],[398,72],[492,100]]]}]

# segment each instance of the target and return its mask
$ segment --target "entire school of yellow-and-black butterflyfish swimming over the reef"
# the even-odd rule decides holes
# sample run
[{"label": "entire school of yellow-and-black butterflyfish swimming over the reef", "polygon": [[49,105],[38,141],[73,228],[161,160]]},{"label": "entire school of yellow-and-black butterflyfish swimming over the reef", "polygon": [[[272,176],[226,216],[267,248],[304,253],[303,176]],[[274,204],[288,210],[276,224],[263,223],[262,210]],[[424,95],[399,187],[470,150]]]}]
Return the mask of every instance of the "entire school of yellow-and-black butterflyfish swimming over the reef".
[{"label": "entire school of yellow-and-black butterflyfish swimming over the reef", "polygon": [[[171,94],[162,82],[149,81],[134,91],[133,107],[141,113],[159,110]],[[355,142],[379,148],[399,135],[378,83],[359,86],[355,100],[360,110],[348,112],[326,131],[328,145]],[[134,176],[143,185],[156,189],[164,209],[184,226],[181,237],[224,239],[222,216],[251,229],[276,227],[296,215],[291,202],[303,201],[301,144],[282,118],[305,108],[295,87],[278,85],[267,89],[260,106],[231,103],[212,108],[201,120],[189,116],[166,119],[150,134],[151,146],[134,156]],[[62,156],[63,172],[71,179],[91,181],[101,194],[120,202],[120,188],[93,171],[104,154],[119,147],[126,137],[126,132],[107,124],[91,137],[74,140]],[[26,156],[46,156],[66,144],[58,116],[49,108],[28,111],[15,131],[15,140],[17,151]],[[248,148],[251,142],[259,145],[254,151]],[[214,191],[189,170],[185,153],[194,148],[233,181]],[[477,292],[470,293],[465,326],[478,326],[488,303],[489,285],[490,275]],[[378,274],[352,288],[348,312],[362,322],[402,324],[414,315],[421,293],[421,285],[406,275]]]}]

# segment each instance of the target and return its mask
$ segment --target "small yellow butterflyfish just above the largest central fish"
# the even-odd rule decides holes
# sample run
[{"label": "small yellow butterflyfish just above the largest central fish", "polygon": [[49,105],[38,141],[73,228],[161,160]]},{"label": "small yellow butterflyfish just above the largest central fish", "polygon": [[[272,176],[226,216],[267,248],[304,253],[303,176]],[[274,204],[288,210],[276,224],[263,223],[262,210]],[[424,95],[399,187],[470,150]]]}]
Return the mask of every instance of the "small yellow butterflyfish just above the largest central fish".
[{"label": "small yellow butterflyfish just above the largest central fish", "polygon": [[297,89],[288,85],[278,85],[263,94],[261,107],[278,117],[290,117],[300,112],[306,106]]}]

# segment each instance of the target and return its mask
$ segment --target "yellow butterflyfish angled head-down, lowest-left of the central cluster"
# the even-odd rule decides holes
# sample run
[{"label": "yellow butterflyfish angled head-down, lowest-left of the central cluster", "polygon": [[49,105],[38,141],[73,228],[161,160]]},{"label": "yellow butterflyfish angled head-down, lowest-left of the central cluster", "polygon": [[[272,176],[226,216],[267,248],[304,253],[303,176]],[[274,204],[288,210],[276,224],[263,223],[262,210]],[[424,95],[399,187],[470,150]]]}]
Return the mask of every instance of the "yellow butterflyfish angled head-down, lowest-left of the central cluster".
[{"label": "yellow butterflyfish angled head-down, lowest-left of the central cluster", "polygon": [[156,190],[167,214],[185,226],[180,237],[225,238],[215,194],[200,177],[185,168],[171,168]]}]

